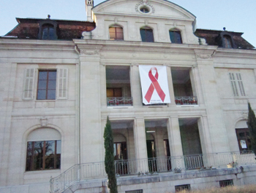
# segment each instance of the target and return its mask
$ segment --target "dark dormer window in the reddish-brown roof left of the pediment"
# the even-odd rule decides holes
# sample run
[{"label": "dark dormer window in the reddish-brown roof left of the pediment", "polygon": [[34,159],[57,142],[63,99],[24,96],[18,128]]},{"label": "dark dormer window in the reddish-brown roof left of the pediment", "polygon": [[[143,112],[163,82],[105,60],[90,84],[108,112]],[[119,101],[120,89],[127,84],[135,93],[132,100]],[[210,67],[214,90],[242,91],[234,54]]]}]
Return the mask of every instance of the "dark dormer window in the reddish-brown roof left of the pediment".
[{"label": "dark dormer window in the reddish-brown roof left of the pediment", "polygon": [[57,23],[53,20],[42,20],[39,23],[38,39],[54,40],[58,39],[57,36]]}]

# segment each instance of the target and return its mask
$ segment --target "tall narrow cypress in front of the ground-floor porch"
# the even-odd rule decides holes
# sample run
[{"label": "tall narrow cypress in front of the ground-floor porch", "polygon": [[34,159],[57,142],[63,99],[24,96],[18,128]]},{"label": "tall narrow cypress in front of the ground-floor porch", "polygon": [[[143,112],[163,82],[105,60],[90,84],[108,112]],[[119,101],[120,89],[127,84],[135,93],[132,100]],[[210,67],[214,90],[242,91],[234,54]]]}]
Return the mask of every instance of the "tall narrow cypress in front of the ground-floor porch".
[{"label": "tall narrow cypress in front of the ground-floor porch", "polygon": [[110,120],[107,118],[107,123],[104,130],[104,146],[105,146],[105,170],[108,174],[108,188],[110,193],[117,193],[116,171],[114,163],[114,146],[113,134],[110,125]]}]

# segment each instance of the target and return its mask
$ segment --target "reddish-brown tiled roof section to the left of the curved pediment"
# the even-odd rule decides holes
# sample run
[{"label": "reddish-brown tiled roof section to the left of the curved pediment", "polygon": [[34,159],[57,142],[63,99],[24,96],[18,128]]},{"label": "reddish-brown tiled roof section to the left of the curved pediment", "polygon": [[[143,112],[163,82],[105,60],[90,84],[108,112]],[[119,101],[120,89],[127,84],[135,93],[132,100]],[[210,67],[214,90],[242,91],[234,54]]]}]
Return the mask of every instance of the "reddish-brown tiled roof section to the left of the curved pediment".
[{"label": "reddish-brown tiled roof section to the left of the curved pediment", "polygon": [[19,39],[37,39],[39,33],[39,23],[42,21],[53,21],[58,25],[58,39],[72,40],[80,39],[83,31],[92,31],[95,23],[78,20],[51,20],[36,18],[16,18],[18,25],[5,36],[15,36]]}]

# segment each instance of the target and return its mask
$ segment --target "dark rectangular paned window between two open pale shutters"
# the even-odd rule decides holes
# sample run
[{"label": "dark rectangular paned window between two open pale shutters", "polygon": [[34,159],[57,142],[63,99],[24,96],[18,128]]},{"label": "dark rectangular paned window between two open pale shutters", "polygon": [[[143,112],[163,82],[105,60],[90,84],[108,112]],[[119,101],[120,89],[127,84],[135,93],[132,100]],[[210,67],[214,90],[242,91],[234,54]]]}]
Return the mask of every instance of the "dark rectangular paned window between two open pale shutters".
[{"label": "dark rectangular paned window between two open pale shutters", "polygon": [[39,71],[37,100],[56,99],[56,71]]}]

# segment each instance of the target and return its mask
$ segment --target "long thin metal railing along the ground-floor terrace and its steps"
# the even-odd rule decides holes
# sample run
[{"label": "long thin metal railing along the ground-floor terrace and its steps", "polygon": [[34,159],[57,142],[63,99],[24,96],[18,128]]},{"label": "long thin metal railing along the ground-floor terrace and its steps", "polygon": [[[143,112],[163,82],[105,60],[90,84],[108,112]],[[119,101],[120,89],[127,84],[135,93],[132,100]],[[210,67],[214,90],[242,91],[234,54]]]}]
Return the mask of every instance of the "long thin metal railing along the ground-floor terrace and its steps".
[{"label": "long thin metal railing along the ground-floor terrace and its steps", "polygon": [[[157,157],[115,161],[116,176],[154,175],[156,173],[181,173],[186,170],[227,168],[256,164],[253,151],[199,154],[180,157]],[[79,181],[107,178],[104,162],[74,165],[56,178],[50,179],[50,192],[60,193]]]}]

